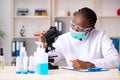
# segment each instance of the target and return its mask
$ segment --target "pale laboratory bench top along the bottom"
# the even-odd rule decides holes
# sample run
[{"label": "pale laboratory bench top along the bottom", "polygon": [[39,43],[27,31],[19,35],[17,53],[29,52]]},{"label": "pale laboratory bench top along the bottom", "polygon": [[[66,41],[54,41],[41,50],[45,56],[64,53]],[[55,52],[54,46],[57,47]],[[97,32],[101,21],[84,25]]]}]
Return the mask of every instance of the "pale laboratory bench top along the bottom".
[{"label": "pale laboratory bench top along the bottom", "polygon": [[65,69],[49,70],[49,75],[16,74],[14,66],[5,66],[0,80],[120,80],[117,68],[102,72],[77,72]]}]

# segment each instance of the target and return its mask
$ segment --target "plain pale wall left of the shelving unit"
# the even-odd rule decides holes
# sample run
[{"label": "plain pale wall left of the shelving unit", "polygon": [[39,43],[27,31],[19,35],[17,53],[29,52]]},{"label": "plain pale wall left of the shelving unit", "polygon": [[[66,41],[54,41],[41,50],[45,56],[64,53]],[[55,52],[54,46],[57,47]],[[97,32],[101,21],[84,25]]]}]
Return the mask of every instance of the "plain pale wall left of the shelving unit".
[{"label": "plain pale wall left of the shelving unit", "polygon": [[11,12],[10,0],[0,0],[0,29],[6,36],[0,41],[0,47],[4,49],[5,64],[10,65],[11,61]]}]

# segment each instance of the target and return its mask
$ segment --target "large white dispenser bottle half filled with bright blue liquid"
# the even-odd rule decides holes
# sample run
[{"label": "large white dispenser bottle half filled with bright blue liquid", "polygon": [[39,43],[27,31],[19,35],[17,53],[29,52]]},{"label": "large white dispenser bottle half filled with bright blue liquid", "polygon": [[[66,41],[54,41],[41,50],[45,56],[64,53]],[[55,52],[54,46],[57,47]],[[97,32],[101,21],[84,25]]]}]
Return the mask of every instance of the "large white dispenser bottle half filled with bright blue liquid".
[{"label": "large white dispenser bottle half filled with bright blue liquid", "polygon": [[39,48],[36,55],[36,72],[39,75],[48,75],[48,54],[44,48]]}]

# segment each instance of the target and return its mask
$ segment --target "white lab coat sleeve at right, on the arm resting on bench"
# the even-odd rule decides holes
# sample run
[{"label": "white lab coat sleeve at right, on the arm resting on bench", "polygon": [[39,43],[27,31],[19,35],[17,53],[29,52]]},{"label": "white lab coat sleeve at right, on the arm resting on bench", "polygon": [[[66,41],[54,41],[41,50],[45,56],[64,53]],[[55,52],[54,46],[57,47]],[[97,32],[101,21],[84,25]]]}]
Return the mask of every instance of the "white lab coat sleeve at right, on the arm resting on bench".
[{"label": "white lab coat sleeve at right, on the arm resting on bench", "polygon": [[112,40],[103,33],[101,37],[101,53],[103,58],[92,60],[96,67],[115,68],[120,64],[120,54],[117,53]]}]

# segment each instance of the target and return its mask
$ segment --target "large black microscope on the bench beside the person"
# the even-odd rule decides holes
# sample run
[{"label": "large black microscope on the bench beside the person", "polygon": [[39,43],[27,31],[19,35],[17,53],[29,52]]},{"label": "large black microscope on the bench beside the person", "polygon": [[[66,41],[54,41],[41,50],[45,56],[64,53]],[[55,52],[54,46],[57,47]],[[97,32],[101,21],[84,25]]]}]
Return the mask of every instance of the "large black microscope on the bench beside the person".
[{"label": "large black microscope on the bench beside the person", "polygon": [[[49,53],[51,51],[54,51],[55,48],[53,47],[53,43],[55,42],[55,39],[58,37],[58,31],[56,27],[50,27],[47,33],[45,33],[41,38],[43,43],[47,43],[45,52]],[[49,69],[58,69],[58,66],[52,65],[54,63],[54,57],[56,56],[49,56],[48,62],[49,62]]]}]

